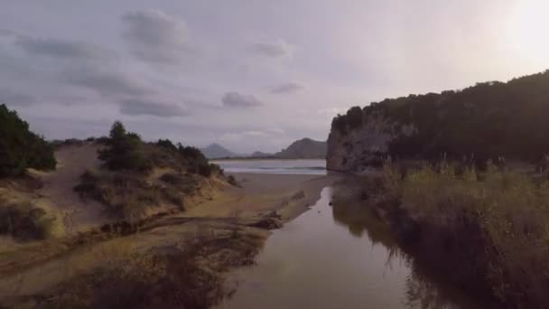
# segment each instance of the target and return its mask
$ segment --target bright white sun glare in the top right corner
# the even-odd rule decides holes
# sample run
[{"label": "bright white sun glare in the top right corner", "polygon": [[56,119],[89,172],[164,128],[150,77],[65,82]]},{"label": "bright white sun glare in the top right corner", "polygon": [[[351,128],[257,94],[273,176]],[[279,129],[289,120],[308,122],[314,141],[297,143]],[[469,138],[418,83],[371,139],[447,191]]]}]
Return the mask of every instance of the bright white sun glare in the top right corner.
[{"label": "bright white sun glare in the top right corner", "polygon": [[549,0],[524,0],[510,19],[510,43],[521,57],[535,64],[549,65],[548,16]]}]

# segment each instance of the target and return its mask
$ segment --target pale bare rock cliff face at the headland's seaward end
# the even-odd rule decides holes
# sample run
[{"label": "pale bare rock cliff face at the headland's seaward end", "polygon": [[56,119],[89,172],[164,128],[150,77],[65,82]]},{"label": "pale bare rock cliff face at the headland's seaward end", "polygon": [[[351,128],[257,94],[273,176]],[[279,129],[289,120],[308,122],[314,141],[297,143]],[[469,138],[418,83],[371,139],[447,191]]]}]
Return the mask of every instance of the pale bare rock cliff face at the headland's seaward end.
[{"label": "pale bare rock cliff face at the headland's seaward end", "polygon": [[331,127],[326,167],[330,171],[362,172],[388,155],[389,144],[399,136],[411,136],[414,126],[403,126],[382,116],[368,116],[362,125],[347,133]]}]

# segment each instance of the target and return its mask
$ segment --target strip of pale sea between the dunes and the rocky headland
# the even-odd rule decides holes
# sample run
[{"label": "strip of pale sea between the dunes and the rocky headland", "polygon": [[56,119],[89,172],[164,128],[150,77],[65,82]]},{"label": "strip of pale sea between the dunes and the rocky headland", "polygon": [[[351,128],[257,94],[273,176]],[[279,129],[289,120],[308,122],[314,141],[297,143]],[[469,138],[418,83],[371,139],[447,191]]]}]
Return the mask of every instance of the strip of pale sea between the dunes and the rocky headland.
[{"label": "strip of pale sea between the dunes and the rocky headland", "polygon": [[326,174],[326,160],[218,160],[228,173]]}]

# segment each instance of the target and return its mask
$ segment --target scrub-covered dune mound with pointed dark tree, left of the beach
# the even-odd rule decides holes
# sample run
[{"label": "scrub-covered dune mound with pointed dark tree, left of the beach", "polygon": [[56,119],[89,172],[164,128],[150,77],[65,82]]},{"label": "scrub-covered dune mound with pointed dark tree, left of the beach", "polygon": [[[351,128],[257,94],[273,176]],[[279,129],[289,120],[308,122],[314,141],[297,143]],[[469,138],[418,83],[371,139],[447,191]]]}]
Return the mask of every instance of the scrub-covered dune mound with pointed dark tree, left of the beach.
[{"label": "scrub-covered dune mound with pointed dark tree, left of the beach", "polygon": [[173,145],[167,139],[145,143],[118,121],[104,143],[98,154],[104,166],[84,173],[74,189],[83,198],[100,201],[123,220],[182,211],[187,198],[209,186],[210,177],[223,176],[199,149]]}]

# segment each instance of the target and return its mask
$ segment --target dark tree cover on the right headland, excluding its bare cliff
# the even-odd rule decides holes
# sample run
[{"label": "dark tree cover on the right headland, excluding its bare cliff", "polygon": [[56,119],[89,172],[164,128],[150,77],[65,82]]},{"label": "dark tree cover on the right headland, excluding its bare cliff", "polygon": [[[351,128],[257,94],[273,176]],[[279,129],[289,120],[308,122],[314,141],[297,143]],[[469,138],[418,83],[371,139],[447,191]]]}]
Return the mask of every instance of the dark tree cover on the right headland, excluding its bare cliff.
[{"label": "dark tree cover on the right headland, excluding its bare cliff", "polygon": [[332,129],[347,134],[367,117],[413,124],[414,136],[390,145],[390,155],[434,159],[441,155],[477,162],[539,160],[549,153],[549,70],[507,83],[485,82],[459,91],[385,99],[335,117]]}]

